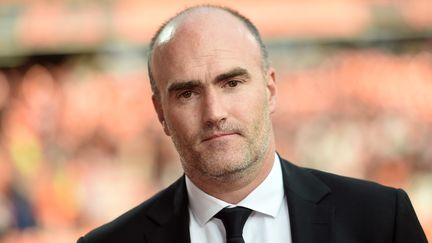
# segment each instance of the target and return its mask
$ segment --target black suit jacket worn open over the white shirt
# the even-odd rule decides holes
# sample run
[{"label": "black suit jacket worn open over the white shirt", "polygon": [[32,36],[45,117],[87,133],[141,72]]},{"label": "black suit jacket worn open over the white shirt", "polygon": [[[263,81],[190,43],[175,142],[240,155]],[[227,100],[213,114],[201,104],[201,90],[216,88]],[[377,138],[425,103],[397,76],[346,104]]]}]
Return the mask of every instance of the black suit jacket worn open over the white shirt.
[{"label": "black suit jacket worn open over the white shirt", "polygon": [[[427,242],[404,191],[281,164],[293,243]],[[189,243],[184,176],[78,240],[102,242]]]}]

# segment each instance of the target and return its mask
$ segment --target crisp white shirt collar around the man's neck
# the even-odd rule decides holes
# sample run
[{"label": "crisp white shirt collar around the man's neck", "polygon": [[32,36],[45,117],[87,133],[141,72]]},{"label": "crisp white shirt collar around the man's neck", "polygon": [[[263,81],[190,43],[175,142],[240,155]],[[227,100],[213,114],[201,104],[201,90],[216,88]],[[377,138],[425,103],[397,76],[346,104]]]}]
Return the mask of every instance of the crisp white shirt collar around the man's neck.
[{"label": "crisp white shirt collar around the man's neck", "polygon": [[201,226],[207,223],[221,209],[228,206],[243,206],[256,212],[276,217],[285,195],[282,169],[279,157],[276,154],[269,175],[237,205],[231,205],[205,193],[195,186],[187,176],[186,189],[189,198],[189,208]]}]

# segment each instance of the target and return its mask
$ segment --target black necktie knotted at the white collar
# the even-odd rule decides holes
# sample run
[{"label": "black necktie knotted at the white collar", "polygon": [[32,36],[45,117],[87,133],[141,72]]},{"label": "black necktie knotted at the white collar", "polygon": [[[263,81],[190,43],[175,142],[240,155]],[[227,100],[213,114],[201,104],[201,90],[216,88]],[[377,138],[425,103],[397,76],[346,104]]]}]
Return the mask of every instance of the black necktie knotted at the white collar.
[{"label": "black necktie knotted at the white collar", "polygon": [[215,215],[225,226],[227,243],[244,243],[243,226],[252,210],[244,207],[224,208]]}]

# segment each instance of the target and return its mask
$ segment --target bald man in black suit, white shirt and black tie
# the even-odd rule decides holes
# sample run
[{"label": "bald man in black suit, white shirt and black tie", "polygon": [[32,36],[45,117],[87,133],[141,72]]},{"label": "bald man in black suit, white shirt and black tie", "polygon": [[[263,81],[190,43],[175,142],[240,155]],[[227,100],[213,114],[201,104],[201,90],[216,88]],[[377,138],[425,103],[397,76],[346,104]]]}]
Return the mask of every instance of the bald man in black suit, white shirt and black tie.
[{"label": "bald man in black suit, white shirt and black tie", "polygon": [[156,33],[148,67],[185,175],[78,242],[427,242],[402,190],[279,158],[275,71],[245,17],[181,12]]}]

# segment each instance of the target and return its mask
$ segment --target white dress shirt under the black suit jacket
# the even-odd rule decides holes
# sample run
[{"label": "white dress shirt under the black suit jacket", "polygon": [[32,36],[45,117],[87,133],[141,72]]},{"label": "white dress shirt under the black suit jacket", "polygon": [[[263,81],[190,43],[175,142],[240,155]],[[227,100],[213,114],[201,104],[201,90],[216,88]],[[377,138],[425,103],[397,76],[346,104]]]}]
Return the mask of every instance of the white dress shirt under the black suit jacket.
[{"label": "white dress shirt under the black suit jacket", "polygon": [[277,155],[267,178],[237,205],[203,192],[187,176],[186,188],[191,243],[225,242],[225,227],[220,219],[213,216],[227,206],[243,206],[253,210],[243,228],[246,243],[291,243],[288,204]]}]

